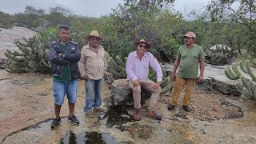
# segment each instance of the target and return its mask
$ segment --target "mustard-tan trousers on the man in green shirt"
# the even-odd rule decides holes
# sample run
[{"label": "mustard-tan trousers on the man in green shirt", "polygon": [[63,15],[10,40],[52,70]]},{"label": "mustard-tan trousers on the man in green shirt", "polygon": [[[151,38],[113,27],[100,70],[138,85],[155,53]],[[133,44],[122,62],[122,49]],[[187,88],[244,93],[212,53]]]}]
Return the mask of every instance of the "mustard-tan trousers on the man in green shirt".
[{"label": "mustard-tan trousers on the man in green shirt", "polygon": [[172,96],[172,100],[170,102],[171,105],[177,106],[178,98],[181,94],[183,87],[186,86],[186,93],[183,98],[183,106],[190,105],[190,98],[194,88],[194,78],[181,78],[176,75],[176,82],[174,85],[174,92]]}]

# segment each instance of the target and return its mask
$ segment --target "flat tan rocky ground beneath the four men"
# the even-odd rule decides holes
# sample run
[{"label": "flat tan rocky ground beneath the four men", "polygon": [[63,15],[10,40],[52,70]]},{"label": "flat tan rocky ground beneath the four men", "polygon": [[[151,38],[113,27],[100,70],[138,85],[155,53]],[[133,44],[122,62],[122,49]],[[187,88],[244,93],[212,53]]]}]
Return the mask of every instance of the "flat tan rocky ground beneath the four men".
[{"label": "flat tan rocky ground beneath the four men", "polygon": [[[4,41],[1,33],[0,42]],[[8,34],[13,38],[11,34],[16,33]],[[8,35],[4,38],[8,39]],[[162,113],[162,121],[145,118],[145,103],[142,106],[142,121],[134,122],[132,107],[109,106],[111,91],[106,82],[102,99],[108,112],[87,118],[83,112],[84,83],[79,81],[75,112],[80,125],[73,126],[66,122],[68,106],[65,100],[61,113],[62,124],[56,129],[50,129],[51,118],[54,118],[54,98],[49,75],[10,74],[1,69],[0,90],[0,143],[256,142],[255,102],[243,102],[232,94],[222,94],[203,85],[194,90],[192,112],[182,110],[181,104],[175,110],[166,110],[171,94],[164,94],[157,106],[157,111]]]}]

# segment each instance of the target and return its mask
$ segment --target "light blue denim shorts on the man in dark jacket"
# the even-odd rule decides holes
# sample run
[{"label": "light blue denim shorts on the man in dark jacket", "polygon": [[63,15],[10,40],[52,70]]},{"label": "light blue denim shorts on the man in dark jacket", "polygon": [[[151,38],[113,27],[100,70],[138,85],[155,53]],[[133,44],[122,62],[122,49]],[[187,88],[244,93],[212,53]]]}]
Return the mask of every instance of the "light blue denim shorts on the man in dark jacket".
[{"label": "light blue denim shorts on the man in dark jacket", "polygon": [[77,102],[77,91],[78,91],[78,80],[73,80],[70,82],[57,82],[54,81],[53,94],[54,103],[57,105],[62,105],[64,103],[64,97],[68,98],[69,102]]}]

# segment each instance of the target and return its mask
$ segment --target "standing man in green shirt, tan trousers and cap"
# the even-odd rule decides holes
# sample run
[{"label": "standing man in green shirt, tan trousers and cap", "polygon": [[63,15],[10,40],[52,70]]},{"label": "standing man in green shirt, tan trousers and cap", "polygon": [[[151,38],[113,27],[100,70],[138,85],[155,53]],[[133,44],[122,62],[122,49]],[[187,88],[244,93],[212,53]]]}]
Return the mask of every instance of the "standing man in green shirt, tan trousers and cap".
[{"label": "standing man in green shirt, tan trousers and cap", "polygon": [[[196,35],[189,31],[183,35],[185,45],[178,49],[178,54],[174,62],[174,69],[170,75],[170,80],[173,81],[176,77],[174,85],[174,93],[168,110],[173,110],[178,104],[178,98],[181,90],[186,86],[186,93],[183,98],[183,109],[191,111],[190,98],[194,88],[194,81],[198,78],[198,82],[202,82],[204,71],[204,52],[201,46],[195,44]],[[200,65],[200,74],[198,76],[198,63]],[[179,66],[179,67],[178,67]],[[176,70],[178,68],[178,74]]]}]

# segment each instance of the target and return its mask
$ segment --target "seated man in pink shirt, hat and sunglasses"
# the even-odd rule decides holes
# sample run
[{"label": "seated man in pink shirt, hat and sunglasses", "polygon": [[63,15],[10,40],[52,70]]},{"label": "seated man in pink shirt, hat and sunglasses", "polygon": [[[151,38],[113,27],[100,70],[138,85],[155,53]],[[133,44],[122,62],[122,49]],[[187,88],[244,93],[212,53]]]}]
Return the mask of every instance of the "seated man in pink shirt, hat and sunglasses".
[{"label": "seated man in pink shirt, hat and sunglasses", "polygon": [[[134,119],[140,121],[141,115],[141,88],[150,90],[152,95],[150,97],[149,106],[146,110],[146,117],[154,118],[157,120],[162,119],[162,115],[156,114],[154,107],[158,102],[160,94],[160,84],[162,82],[162,70],[158,61],[154,58],[153,54],[148,52],[150,43],[141,39],[134,42],[136,51],[129,54],[126,63],[126,74],[129,79],[129,86],[133,90],[135,115]],[[157,82],[153,82],[148,78],[149,66],[157,73]]]}]

